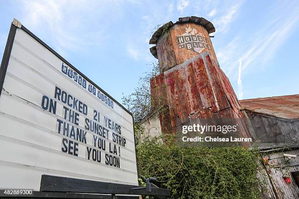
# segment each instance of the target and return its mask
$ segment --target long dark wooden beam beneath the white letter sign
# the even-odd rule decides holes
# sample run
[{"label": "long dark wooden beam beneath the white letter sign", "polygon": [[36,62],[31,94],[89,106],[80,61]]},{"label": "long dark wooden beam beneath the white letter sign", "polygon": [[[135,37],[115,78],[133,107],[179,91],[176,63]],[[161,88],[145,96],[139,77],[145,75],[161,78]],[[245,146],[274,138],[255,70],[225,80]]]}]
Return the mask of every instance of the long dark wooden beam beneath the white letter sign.
[{"label": "long dark wooden beam beneath the white letter sign", "polygon": [[126,195],[150,195],[150,196],[170,196],[167,189],[151,188],[151,192],[146,192],[142,186],[118,184],[112,182],[101,182],[85,179],[64,178],[58,176],[42,175],[40,191],[50,192],[75,192],[94,194],[126,194]]}]

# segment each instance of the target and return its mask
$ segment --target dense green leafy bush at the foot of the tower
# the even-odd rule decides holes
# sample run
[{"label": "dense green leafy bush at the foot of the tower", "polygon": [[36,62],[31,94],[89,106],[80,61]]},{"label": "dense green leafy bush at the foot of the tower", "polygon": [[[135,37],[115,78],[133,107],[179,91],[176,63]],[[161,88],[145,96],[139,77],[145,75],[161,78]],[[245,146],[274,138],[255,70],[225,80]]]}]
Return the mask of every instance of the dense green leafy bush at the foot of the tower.
[{"label": "dense green leafy bush at the foot of the tower", "polygon": [[140,175],[154,177],[171,199],[257,199],[257,154],[236,148],[181,148],[175,139],[137,145]]}]

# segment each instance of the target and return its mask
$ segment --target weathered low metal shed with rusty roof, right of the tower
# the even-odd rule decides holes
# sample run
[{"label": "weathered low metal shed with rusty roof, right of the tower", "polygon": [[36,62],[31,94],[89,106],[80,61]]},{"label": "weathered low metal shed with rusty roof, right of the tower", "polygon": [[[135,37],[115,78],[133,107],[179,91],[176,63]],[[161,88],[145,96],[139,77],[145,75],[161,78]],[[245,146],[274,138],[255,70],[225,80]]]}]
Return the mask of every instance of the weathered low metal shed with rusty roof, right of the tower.
[{"label": "weathered low metal shed with rusty roof, right of the tower", "polygon": [[[299,187],[291,174],[299,171],[299,157],[290,160],[283,157],[283,153],[299,156],[298,98],[299,95],[293,95],[240,100],[248,116],[246,121],[254,130],[254,138],[261,142],[258,145],[261,158],[269,159],[269,164],[263,165],[264,170],[258,169],[259,189],[266,188],[263,199],[299,199]],[[285,107],[290,111],[286,112]],[[276,111],[272,112],[274,109]],[[288,149],[296,144],[297,149]],[[285,182],[283,175],[291,179],[290,184]]]}]

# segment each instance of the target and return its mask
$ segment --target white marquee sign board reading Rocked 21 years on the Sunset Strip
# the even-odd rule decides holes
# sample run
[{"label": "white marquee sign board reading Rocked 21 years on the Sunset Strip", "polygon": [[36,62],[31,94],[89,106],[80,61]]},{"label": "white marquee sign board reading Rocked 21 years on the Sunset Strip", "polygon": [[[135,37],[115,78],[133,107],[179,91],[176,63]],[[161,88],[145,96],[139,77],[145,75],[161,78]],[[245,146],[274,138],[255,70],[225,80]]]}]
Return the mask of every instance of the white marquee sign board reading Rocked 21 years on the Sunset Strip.
[{"label": "white marquee sign board reading Rocked 21 years on the Sunset Strip", "polygon": [[9,38],[0,189],[39,191],[43,174],[138,185],[132,115],[25,27]]}]

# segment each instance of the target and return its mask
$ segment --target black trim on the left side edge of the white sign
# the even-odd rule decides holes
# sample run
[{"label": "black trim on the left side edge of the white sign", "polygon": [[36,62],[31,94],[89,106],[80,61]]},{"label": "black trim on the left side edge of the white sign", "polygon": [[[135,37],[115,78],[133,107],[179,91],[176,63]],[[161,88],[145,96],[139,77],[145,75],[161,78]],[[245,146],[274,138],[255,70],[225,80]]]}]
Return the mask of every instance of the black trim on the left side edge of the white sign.
[{"label": "black trim on the left side edge of the white sign", "polygon": [[0,97],[1,97],[1,93],[2,93],[3,83],[4,83],[6,71],[7,71],[10,54],[11,54],[11,49],[12,49],[12,46],[13,46],[13,43],[15,40],[15,36],[16,36],[16,31],[17,31],[17,26],[15,26],[11,23],[9,34],[8,34],[6,45],[5,45],[5,49],[4,49],[4,53],[3,53],[3,57],[2,57],[2,61],[1,61],[1,66],[0,66]]}]

